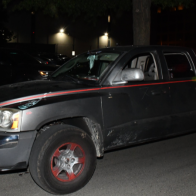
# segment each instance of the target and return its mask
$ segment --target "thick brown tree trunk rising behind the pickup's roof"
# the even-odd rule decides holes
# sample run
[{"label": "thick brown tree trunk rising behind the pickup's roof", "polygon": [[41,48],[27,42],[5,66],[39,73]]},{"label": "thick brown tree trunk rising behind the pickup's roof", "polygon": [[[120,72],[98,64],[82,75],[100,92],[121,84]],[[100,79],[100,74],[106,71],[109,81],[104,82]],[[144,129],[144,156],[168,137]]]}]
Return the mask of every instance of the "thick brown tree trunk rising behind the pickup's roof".
[{"label": "thick brown tree trunk rising behind the pickup's roof", "polygon": [[133,44],[150,45],[151,0],[133,0]]}]

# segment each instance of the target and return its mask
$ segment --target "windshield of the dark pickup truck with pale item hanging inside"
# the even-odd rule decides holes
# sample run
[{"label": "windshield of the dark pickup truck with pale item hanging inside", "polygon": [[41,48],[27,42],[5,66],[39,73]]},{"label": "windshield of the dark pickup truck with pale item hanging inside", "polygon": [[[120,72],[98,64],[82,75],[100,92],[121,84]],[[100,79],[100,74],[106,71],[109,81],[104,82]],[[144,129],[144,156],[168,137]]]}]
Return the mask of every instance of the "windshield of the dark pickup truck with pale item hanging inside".
[{"label": "windshield of the dark pickup truck with pale item hanging inside", "polygon": [[114,62],[119,53],[95,52],[85,53],[65,63],[60,69],[52,74],[52,78],[63,79],[72,77],[82,80],[98,81],[106,72],[109,65]]}]

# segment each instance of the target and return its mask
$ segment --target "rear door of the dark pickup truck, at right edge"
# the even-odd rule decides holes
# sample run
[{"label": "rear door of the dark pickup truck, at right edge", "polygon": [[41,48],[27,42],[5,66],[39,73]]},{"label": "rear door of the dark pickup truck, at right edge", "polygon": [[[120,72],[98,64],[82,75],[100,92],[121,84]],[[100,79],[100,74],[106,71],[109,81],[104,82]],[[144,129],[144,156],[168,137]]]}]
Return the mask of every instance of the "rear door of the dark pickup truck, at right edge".
[{"label": "rear door of the dark pickup truck, at right edge", "polygon": [[195,67],[187,51],[163,51],[168,68],[171,91],[171,130],[168,134],[195,129],[196,82]]}]

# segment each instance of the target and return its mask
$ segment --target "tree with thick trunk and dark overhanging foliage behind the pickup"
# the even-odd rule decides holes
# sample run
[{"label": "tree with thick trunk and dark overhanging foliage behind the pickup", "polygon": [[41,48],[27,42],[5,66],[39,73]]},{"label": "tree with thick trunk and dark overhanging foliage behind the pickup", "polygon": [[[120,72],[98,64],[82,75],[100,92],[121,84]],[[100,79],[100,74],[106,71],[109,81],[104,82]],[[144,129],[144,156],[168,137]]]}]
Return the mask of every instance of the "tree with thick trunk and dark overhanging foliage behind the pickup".
[{"label": "tree with thick trunk and dark overhanging foliage behind the pickup", "polygon": [[162,8],[183,5],[193,5],[193,0],[3,0],[5,7],[29,11],[43,10],[51,16],[66,13],[74,19],[85,17],[95,22],[102,15],[109,12],[115,16],[124,11],[133,12],[134,45],[150,44],[151,4]]}]

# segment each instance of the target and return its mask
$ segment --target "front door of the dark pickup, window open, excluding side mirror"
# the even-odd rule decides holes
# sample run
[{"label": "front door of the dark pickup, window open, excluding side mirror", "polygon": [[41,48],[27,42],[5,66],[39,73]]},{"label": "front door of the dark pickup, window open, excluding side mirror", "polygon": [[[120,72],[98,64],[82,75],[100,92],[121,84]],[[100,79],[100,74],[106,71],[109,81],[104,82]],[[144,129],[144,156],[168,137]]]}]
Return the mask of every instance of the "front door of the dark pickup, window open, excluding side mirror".
[{"label": "front door of the dark pickup, window open, excluding side mirror", "polygon": [[[144,81],[121,84],[121,72],[127,68],[142,69]],[[171,112],[169,86],[163,80],[155,51],[131,53],[107,92],[108,97],[102,99],[108,148],[161,138],[167,133]]]}]

